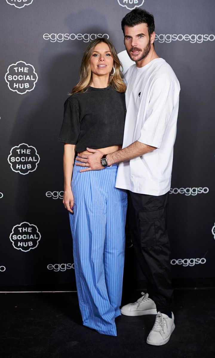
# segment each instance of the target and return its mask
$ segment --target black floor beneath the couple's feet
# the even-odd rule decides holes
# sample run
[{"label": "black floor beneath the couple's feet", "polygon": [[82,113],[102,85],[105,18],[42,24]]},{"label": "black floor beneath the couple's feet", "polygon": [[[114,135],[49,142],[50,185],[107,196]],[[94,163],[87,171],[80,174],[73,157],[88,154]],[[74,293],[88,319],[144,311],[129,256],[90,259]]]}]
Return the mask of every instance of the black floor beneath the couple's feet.
[{"label": "black floor beneath the couple's feet", "polygon": [[1,293],[0,357],[214,358],[214,301],[215,290],[176,290],[176,329],[155,347],[146,343],[153,315],[117,318],[110,337],[82,326],[76,293]]}]

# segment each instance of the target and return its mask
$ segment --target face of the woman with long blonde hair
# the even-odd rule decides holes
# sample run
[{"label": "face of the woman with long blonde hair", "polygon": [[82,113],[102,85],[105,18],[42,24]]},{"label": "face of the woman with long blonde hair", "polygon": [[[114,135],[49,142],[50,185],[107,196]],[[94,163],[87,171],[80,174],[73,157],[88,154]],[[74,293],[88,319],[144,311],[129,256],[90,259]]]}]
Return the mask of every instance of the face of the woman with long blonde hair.
[{"label": "face of the woman with long blonde hair", "polygon": [[114,60],[110,52],[108,44],[105,42],[100,42],[94,48],[92,57],[90,60],[90,67],[92,73],[97,76],[109,76],[113,68]]}]

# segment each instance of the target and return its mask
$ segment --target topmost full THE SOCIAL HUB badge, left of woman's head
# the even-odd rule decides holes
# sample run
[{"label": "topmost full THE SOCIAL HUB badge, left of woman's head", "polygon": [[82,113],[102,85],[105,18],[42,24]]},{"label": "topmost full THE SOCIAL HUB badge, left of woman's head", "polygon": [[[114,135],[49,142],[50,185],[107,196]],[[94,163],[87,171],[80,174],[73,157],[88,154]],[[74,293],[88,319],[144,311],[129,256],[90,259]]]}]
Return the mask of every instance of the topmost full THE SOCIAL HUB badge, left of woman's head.
[{"label": "topmost full THE SOCIAL HUB badge, left of woman's head", "polygon": [[5,81],[11,91],[24,95],[33,91],[38,80],[34,66],[24,61],[18,61],[8,67],[5,74]]}]

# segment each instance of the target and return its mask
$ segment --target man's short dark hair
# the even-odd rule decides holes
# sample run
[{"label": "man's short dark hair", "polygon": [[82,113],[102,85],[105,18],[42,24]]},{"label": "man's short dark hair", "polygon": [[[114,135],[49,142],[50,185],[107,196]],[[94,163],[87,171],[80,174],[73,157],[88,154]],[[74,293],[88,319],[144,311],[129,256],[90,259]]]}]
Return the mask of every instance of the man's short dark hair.
[{"label": "man's short dark hair", "polygon": [[126,14],[121,22],[121,27],[123,34],[125,35],[124,28],[125,26],[135,26],[139,24],[147,24],[149,37],[154,32],[154,16],[148,11],[143,9],[134,9],[130,13]]}]

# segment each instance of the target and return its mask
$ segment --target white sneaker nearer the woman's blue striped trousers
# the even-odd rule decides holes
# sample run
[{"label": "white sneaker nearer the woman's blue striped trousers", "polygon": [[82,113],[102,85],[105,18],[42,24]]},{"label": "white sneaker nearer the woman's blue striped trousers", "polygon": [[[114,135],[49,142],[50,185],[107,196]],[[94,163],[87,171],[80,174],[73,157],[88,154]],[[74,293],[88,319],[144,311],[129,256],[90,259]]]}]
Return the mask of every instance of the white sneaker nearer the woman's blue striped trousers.
[{"label": "white sneaker nearer the woman's blue striped trousers", "polygon": [[121,308],[121,313],[125,316],[142,316],[145,314],[157,314],[156,304],[149,298],[148,293],[141,292],[136,302],[129,303]]}]

